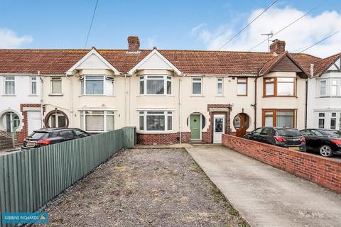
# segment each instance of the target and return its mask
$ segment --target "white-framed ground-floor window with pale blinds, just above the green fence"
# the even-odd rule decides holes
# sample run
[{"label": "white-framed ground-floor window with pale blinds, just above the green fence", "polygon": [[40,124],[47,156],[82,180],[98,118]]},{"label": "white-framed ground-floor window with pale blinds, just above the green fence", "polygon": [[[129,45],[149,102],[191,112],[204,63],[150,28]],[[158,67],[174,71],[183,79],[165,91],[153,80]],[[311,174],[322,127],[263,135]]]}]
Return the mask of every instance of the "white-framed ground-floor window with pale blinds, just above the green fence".
[{"label": "white-framed ground-floor window with pale blinds, just above the green fence", "polygon": [[80,128],[87,132],[114,130],[114,111],[80,111]]}]

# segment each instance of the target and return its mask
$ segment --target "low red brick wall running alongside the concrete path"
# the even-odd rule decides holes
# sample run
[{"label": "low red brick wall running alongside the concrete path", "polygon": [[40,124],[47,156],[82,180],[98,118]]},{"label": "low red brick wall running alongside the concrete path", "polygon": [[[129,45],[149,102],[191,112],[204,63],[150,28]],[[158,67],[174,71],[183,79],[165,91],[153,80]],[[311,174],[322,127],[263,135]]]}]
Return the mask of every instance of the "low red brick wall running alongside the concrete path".
[{"label": "low red brick wall running alongside the concrete path", "polygon": [[222,145],[341,193],[341,162],[332,158],[222,135]]}]

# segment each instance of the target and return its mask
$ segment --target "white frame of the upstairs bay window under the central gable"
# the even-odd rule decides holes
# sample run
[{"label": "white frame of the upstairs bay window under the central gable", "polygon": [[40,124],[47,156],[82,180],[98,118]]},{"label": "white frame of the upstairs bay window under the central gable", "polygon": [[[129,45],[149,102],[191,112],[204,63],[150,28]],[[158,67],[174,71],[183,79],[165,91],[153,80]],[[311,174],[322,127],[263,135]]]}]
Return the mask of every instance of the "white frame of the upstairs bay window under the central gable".
[{"label": "white frame of the upstairs bay window under the central gable", "polygon": [[[151,77],[163,77],[163,94],[148,94],[148,79],[161,80],[161,78],[153,79]],[[168,82],[171,82],[171,94],[168,94]],[[141,83],[143,83],[143,93],[141,93]],[[173,95],[173,77],[168,74],[144,74],[139,77],[139,95],[140,96],[172,96]]]}]

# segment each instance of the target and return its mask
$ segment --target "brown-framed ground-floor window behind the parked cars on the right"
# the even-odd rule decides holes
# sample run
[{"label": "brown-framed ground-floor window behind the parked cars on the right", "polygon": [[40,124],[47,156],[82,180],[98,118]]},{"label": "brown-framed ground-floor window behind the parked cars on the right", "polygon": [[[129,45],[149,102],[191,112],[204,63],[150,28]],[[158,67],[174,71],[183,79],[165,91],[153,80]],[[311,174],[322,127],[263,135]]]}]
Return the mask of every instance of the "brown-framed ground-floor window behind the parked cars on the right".
[{"label": "brown-framed ground-floor window behind the parked cars on the right", "polygon": [[263,109],[263,126],[296,127],[296,111],[293,109]]}]

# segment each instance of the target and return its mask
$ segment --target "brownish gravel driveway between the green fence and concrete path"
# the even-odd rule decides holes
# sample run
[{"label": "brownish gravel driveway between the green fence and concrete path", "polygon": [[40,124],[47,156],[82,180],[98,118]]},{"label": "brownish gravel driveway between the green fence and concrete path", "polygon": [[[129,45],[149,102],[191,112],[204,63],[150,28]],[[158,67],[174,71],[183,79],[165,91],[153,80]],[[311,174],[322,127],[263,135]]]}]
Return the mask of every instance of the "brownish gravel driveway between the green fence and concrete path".
[{"label": "brownish gravel driveway between the green fence and concrete path", "polygon": [[183,149],[121,150],[53,201],[48,226],[247,226]]}]

